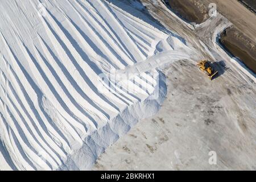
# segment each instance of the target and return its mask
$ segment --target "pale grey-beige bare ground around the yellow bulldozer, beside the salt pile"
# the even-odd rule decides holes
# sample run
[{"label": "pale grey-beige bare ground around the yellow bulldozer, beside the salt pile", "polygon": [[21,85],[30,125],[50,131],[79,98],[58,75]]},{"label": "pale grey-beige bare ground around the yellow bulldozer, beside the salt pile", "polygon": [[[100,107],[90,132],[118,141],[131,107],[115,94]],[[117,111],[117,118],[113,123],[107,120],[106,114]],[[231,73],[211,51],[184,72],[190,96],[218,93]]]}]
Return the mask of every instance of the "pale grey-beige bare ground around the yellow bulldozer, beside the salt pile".
[{"label": "pale grey-beige bare ground around the yellow bulldozer, beside the salt pile", "polygon": [[[165,67],[168,93],[159,113],[140,121],[107,148],[93,170],[255,170],[255,82],[211,42],[216,24],[223,20],[191,30],[164,6],[142,2],[148,13],[179,32],[202,57],[216,61],[220,74],[210,81],[185,60]],[[216,165],[209,164],[210,151],[217,154]]]}]

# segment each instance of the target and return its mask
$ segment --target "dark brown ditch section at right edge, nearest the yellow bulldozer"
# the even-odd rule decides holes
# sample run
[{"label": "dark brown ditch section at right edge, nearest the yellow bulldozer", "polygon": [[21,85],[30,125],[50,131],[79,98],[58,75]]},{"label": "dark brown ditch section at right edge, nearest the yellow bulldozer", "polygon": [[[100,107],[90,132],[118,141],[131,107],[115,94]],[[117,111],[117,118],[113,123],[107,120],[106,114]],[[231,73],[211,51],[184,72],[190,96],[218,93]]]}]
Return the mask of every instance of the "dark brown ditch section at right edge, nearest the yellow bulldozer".
[{"label": "dark brown ditch section at right edge, nearest the yellow bulldozer", "polygon": [[256,48],[236,28],[228,28],[221,34],[221,43],[235,57],[256,73]]}]

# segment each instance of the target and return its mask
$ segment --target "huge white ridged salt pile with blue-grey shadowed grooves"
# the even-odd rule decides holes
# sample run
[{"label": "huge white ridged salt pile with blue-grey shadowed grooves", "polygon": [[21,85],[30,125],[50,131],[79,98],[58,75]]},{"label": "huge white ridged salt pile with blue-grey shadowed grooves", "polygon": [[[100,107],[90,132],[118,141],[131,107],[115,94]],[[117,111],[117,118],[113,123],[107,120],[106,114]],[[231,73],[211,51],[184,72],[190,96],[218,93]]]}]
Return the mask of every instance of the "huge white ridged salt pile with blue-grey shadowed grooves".
[{"label": "huge white ridged salt pile with blue-grey shadowed grooves", "polygon": [[0,169],[89,169],[166,90],[155,69],[119,90],[110,73],[186,46],[105,1],[42,2],[0,3]]}]

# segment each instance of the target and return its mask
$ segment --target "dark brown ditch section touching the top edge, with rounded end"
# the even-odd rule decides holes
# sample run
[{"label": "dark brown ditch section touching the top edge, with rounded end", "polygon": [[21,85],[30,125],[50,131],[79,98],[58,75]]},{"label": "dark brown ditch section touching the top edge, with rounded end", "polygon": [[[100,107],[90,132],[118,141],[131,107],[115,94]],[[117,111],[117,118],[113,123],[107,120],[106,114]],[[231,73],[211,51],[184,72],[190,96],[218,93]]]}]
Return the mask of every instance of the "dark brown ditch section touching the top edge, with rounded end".
[{"label": "dark brown ditch section touching the top edge, with rounded end", "polygon": [[181,18],[195,23],[203,23],[208,18],[207,8],[195,0],[169,0],[173,9]]}]

